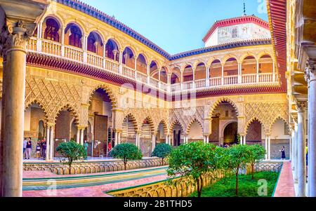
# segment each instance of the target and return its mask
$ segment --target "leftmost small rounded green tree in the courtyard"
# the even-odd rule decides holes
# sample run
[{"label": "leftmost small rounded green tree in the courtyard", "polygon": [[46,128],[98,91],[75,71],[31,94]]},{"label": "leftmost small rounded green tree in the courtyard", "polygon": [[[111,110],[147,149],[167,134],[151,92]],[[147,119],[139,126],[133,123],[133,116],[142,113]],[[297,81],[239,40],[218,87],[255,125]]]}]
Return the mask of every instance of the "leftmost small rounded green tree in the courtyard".
[{"label": "leftmost small rounded green tree in the courtyard", "polygon": [[86,150],[84,149],[84,146],[77,144],[74,141],[62,142],[56,148],[56,151],[64,157],[61,162],[65,165],[69,165],[70,175],[72,174],[72,163],[86,158]]}]

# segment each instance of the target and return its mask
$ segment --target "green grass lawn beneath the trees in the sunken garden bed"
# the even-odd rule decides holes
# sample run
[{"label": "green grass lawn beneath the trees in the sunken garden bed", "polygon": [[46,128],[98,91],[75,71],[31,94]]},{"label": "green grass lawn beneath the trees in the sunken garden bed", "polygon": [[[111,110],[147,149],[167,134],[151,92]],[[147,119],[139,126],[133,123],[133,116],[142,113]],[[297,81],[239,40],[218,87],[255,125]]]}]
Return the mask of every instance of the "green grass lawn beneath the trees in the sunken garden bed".
[{"label": "green grass lawn beneath the trees in the sunken garden bed", "polygon": [[[265,197],[271,197],[278,177],[279,172],[256,172],[255,179],[251,179],[251,175],[239,175],[238,197],[263,197],[258,196],[258,188],[261,186],[258,184],[259,179],[265,179],[268,182],[268,196]],[[235,177],[220,179],[215,184],[204,187],[202,197],[236,197],[235,185]],[[192,193],[190,197],[197,197],[197,192]]]}]

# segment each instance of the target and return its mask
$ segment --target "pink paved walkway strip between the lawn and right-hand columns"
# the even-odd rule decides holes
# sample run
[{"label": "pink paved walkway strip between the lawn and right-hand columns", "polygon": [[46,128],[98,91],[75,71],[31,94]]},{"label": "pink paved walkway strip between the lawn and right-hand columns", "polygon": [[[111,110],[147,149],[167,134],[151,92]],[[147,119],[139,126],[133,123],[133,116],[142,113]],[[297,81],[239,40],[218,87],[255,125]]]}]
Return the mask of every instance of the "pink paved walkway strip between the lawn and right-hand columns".
[{"label": "pink paved walkway strip between the lawn and right-hand columns", "polygon": [[275,189],[275,197],[295,197],[291,162],[285,161]]}]

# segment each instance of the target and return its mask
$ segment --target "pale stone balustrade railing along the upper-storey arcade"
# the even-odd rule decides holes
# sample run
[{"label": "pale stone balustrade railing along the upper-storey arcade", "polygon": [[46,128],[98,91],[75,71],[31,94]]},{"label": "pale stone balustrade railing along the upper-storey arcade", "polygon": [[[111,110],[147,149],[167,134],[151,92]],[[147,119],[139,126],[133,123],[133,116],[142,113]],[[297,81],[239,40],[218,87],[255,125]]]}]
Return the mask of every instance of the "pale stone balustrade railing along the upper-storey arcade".
[{"label": "pale stone balustrade railing along the upper-storey arcade", "polygon": [[167,84],[152,77],[147,76],[141,72],[136,71],[125,64],[120,64],[110,58],[84,51],[81,48],[74,46],[65,46],[55,41],[48,41],[45,39],[37,39],[32,37],[27,43],[27,50],[30,52],[37,52],[46,55],[53,55],[56,57],[63,57],[67,60],[75,62],[82,62],[91,65],[91,67],[98,67],[103,72],[112,72],[126,78],[136,80],[140,83],[145,83],[149,86],[162,90],[164,92],[181,92],[182,90],[193,90],[203,88],[215,88],[220,86],[244,85],[244,84],[276,84],[279,81],[279,76],[273,73],[263,74],[244,74],[241,76],[219,76],[211,77],[210,79],[198,79],[196,81],[186,81],[183,83]]}]

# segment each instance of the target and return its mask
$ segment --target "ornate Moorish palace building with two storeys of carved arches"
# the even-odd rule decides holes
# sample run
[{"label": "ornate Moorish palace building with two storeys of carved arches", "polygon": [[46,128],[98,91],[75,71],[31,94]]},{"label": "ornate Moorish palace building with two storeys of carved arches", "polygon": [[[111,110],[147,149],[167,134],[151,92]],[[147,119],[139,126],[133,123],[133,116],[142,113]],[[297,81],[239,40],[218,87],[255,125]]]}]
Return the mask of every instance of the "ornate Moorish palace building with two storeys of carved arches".
[{"label": "ornate Moorish palace building with two storeys of carved arches", "polygon": [[[218,20],[201,37],[204,48],[170,55],[77,0],[1,0],[0,164],[6,196],[20,194],[21,184],[12,181],[22,178],[23,137],[34,144],[46,139],[46,161],[71,139],[87,141],[91,157],[106,156],[108,143],[136,144],[150,157],[158,143],[204,140],[261,144],[270,161],[280,158],[284,146],[287,158],[298,160],[293,166],[301,168],[296,179],[303,189],[299,158],[305,146],[296,142],[304,144],[307,134],[300,113],[309,96],[303,76],[309,53],[315,53],[306,49],[315,42],[297,42],[315,35],[308,34],[315,22],[296,28],[294,17],[306,12],[315,18],[308,8],[315,6],[301,4],[268,0],[269,22],[254,15]],[[315,182],[315,165],[308,173]],[[310,185],[314,194],[315,183]]]}]

